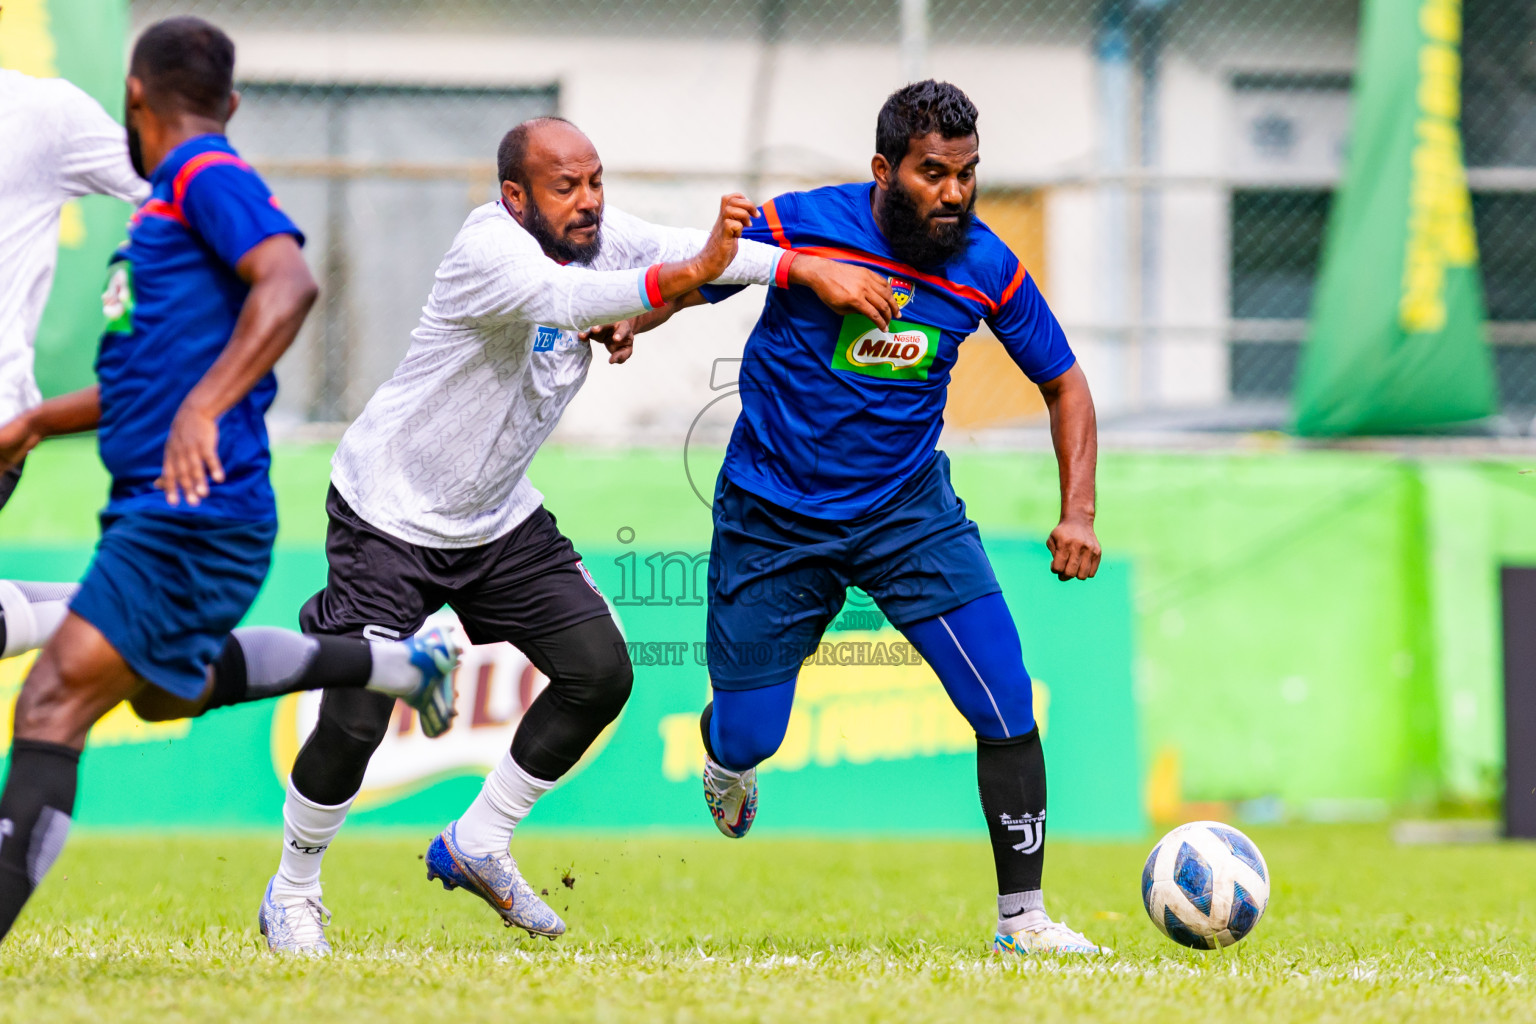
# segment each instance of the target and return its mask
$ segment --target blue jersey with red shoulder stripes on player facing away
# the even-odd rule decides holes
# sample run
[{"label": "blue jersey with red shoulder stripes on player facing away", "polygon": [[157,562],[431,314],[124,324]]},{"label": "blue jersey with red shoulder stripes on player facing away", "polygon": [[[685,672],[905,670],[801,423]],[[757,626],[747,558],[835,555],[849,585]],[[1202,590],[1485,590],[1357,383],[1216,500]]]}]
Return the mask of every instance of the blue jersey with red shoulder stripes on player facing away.
[{"label": "blue jersey with red shoulder stripes on player facing away", "polygon": [[[127,241],[108,266],[108,318],[97,353],[101,462],[112,474],[108,513],[169,508],[155,479],[170,421],[224,352],[249,286],[235,264],[273,235],[304,236],[223,135],[174,149],[149,178]],[[186,514],[266,520],[276,516],[267,468],[266,411],[276,378],[263,378],[218,421],[226,481]]]}]

